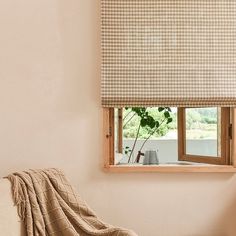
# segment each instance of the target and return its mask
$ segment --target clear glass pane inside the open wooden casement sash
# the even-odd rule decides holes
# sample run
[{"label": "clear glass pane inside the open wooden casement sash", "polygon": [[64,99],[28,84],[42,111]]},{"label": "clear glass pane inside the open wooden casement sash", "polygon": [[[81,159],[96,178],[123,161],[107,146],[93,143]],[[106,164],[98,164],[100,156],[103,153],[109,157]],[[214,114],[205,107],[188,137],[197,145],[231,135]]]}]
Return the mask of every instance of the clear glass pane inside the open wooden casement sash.
[{"label": "clear glass pane inside the open wooden casement sash", "polygon": [[220,156],[220,108],[186,108],[186,154]]}]

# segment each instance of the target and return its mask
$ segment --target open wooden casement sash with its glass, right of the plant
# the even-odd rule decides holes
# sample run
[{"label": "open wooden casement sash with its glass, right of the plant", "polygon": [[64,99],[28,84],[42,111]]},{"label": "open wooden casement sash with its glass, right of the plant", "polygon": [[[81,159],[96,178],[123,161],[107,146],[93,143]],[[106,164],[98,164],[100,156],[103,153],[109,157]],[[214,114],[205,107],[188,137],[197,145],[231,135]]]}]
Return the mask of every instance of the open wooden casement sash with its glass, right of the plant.
[{"label": "open wooden casement sash with its glass, right of the plant", "polygon": [[230,109],[178,109],[179,160],[227,165],[230,163]]}]

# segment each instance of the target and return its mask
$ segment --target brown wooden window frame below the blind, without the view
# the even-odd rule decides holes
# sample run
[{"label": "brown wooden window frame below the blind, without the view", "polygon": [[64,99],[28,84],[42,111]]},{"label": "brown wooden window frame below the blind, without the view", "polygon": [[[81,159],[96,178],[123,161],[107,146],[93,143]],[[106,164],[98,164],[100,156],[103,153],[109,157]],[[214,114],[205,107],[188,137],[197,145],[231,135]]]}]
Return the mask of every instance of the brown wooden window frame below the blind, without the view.
[{"label": "brown wooden window frame below the blind, without the view", "polygon": [[[178,156],[179,160],[194,161],[206,163],[204,161],[210,161],[211,163],[206,163],[206,165],[157,165],[157,166],[140,166],[140,165],[130,165],[122,166],[115,165],[115,121],[114,121],[114,108],[103,108],[103,157],[104,164],[103,169],[107,172],[164,172],[164,173],[183,173],[183,172],[236,172],[236,108],[222,108],[222,120],[226,120],[227,124],[232,124],[232,139],[227,140],[225,148],[220,158],[215,162],[213,157],[205,156],[194,156],[185,155],[185,144],[184,144],[184,133],[182,131],[178,132]],[[226,110],[227,109],[227,110]],[[231,110],[231,112],[229,112]],[[179,113],[180,111],[180,113]],[[180,118],[183,116],[184,108],[178,108],[178,125],[181,121]],[[180,117],[179,117],[180,116]],[[122,113],[118,113],[118,119],[122,121]],[[182,122],[183,122],[183,118]],[[119,121],[119,133],[121,133],[122,123]],[[183,127],[182,127],[183,128]],[[229,129],[224,126],[221,136],[227,137],[229,139]],[[221,132],[222,132],[221,131]],[[182,133],[182,134],[181,134]],[[179,136],[182,137],[182,142],[180,142]],[[222,139],[223,140],[223,139]],[[223,141],[221,141],[223,142]],[[122,139],[118,140],[118,149],[122,150]],[[180,151],[181,150],[181,151]],[[196,160],[198,158],[198,161]],[[210,158],[210,159],[209,159]],[[213,159],[213,160],[212,160]],[[220,161],[218,161],[220,160]],[[209,165],[211,164],[211,165]]]}]

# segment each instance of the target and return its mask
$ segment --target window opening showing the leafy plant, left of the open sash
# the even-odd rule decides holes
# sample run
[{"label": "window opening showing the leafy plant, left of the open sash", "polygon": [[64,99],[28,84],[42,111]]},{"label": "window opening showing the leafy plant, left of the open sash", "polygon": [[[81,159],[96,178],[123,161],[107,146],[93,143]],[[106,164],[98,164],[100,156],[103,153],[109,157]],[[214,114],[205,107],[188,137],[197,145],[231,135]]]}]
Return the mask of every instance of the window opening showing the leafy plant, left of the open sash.
[{"label": "window opening showing the leafy plant, left of the open sash", "polygon": [[146,151],[157,151],[158,164],[178,161],[177,108],[123,108],[122,113],[122,132],[118,119],[115,122],[116,144],[122,135],[122,149],[115,153],[117,165],[143,165]]}]

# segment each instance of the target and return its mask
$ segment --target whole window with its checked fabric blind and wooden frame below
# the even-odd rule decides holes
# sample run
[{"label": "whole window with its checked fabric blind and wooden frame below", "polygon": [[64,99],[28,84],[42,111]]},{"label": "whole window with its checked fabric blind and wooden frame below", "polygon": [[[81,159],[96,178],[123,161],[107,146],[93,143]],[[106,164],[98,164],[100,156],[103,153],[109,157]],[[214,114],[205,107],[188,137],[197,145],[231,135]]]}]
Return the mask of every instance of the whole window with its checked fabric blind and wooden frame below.
[{"label": "whole window with its checked fabric blind and wooden frame below", "polygon": [[235,24],[236,1],[101,1],[108,169],[236,170]]}]

